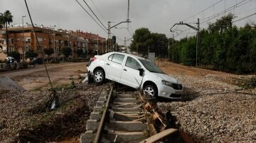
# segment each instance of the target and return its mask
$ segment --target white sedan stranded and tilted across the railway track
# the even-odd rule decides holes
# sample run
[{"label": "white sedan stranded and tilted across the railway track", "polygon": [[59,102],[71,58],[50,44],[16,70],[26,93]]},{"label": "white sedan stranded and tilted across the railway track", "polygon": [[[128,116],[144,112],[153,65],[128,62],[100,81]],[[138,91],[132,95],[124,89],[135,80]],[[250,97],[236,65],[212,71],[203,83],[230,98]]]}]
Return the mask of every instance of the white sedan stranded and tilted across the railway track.
[{"label": "white sedan stranded and tilted across the railway track", "polygon": [[156,64],[142,57],[122,52],[95,55],[87,64],[88,81],[102,84],[105,79],[142,88],[149,96],[181,98],[182,85],[172,76],[164,74]]}]

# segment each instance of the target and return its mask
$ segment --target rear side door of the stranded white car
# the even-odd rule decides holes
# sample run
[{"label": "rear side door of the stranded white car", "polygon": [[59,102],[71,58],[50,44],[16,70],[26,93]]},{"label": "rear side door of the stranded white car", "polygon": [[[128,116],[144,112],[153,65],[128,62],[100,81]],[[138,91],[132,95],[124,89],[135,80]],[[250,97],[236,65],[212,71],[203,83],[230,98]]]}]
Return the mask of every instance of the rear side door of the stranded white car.
[{"label": "rear side door of the stranded white car", "polygon": [[124,61],[124,55],[122,54],[112,54],[107,57],[105,62],[105,71],[107,74],[107,79],[119,82],[122,72],[122,63]]}]

